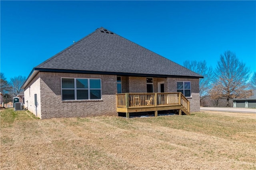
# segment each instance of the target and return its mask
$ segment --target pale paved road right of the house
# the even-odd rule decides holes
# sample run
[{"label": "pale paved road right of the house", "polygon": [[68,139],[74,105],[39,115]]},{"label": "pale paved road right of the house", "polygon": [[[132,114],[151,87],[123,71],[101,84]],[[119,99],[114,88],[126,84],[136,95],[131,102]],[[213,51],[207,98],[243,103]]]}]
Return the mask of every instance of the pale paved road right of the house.
[{"label": "pale paved road right of the house", "polygon": [[201,111],[233,112],[233,113],[254,113],[256,109],[235,108],[235,107],[200,107]]}]

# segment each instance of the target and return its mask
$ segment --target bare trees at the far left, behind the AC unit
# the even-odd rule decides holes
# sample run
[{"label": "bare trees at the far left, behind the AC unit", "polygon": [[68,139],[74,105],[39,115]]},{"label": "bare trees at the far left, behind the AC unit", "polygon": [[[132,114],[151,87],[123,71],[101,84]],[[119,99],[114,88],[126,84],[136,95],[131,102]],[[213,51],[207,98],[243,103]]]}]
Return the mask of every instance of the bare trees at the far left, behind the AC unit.
[{"label": "bare trees at the far left, behind the AC unit", "polygon": [[26,81],[26,77],[19,75],[12,77],[10,81],[7,81],[4,73],[0,73],[0,80],[0,91],[3,94],[3,101],[4,103],[8,103],[12,101],[13,97],[16,97],[23,91],[21,87]]}]

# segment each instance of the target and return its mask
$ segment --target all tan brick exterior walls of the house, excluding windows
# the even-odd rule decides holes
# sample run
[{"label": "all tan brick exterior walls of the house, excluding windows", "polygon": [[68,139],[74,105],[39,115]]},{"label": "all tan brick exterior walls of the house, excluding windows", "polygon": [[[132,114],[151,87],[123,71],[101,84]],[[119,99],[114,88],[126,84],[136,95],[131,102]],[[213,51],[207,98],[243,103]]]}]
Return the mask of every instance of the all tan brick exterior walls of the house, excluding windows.
[{"label": "all tan brick exterior walls of the house, excluding windows", "polygon": [[[62,77],[101,79],[102,100],[62,101]],[[200,111],[199,79],[153,78],[155,93],[158,92],[158,82],[162,81],[165,92],[177,92],[177,81],[190,81],[192,94],[188,98],[190,111]],[[122,76],[122,93],[146,92],[146,77]],[[116,93],[116,75],[39,72],[24,89],[24,107],[28,107],[28,110],[40,119],[117,115]],[[34,94],[37,94],[37,108],[34,105]]]}]

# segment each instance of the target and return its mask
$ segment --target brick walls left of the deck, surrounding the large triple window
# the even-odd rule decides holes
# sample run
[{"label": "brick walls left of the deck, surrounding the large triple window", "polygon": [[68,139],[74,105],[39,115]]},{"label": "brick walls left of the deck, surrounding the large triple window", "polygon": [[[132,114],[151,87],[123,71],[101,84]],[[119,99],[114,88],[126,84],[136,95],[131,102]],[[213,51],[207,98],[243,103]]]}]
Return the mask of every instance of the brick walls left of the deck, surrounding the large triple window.
[{"label": "brick walls left of the deck, surrounding the large triple window", "polygon": [[[40,77],[40,78],[39,78]],[[62,101],[61,78],[99,78],[102,83],[102,100]],[[41,119],[56,117],[88,117],[99,115],[117,115],[116,113],[116,76],[72,73],[40,72],[33,84],[25,88],[25,101],[28,110],[35,114],[34,93],[37,93],[37,115]],[[29,97],[30,87],[30,97]],[[36,91],[38,90],[38,91]],[[26,105],[26,102],[25,102]]]}]

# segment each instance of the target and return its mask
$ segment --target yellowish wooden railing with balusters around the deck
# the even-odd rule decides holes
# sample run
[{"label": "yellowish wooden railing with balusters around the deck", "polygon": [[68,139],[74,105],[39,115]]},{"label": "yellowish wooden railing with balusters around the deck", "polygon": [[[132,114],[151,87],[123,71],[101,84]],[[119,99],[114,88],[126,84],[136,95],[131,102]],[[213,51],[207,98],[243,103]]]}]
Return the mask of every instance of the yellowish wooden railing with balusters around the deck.
[{"label": "yellowish wooden railing with balusters around the deck", "polygon": [[116,94],[116,107],[157,107],[181,105],[190,112],[190,103],[182,93],[120,93]]}]

